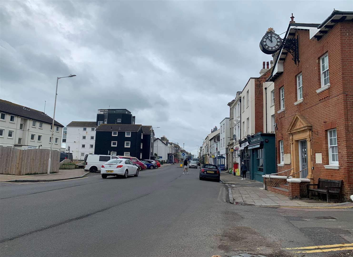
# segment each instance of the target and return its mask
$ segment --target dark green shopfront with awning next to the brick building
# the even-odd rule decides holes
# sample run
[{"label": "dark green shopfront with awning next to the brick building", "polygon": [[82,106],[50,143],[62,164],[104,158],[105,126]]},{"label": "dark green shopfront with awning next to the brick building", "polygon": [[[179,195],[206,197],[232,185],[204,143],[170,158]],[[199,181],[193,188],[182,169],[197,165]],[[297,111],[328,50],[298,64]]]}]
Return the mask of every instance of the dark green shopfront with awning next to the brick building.
[{"label": "dark green shopfront with awning next to the brick building", "polygon": [[249,136],[248,143],[251,179],[263,182],[262,175],[276,173],[275,134],[259,132]]}]

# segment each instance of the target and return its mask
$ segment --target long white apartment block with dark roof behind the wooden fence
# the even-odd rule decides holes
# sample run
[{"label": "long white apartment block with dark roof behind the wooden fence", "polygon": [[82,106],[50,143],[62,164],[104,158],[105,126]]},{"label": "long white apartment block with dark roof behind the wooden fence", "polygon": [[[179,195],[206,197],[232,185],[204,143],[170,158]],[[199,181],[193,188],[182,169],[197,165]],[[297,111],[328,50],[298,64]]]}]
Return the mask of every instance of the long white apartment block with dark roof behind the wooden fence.
[{"label": "long white apartment block with dark roof behind the wooden fence", "polygon": [[[0,99],[0,146],[50,149],[52,122],[47,114]],[[53,150],[60,151],[64,126],[54,122]]]}]

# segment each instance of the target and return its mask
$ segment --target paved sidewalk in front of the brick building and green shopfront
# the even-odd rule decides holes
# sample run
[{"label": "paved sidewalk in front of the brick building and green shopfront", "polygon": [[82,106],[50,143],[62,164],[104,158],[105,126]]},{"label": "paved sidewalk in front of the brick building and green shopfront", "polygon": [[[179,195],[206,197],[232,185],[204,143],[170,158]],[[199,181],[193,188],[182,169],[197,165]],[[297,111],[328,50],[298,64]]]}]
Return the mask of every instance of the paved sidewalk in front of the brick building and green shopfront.
[{"label": "paved sidewalk in front of the brick building and green shopfront", "polygon": [[326,203],[308,199],[291,200],[287,196],[273,193],[263,189],[263,183],[245,179],[240,176],[222,172],[221,180],[229,188],[229,197],[235,204],[247,204],[257,206],[290,206],[290,207],[349,207],[352,203]]}]

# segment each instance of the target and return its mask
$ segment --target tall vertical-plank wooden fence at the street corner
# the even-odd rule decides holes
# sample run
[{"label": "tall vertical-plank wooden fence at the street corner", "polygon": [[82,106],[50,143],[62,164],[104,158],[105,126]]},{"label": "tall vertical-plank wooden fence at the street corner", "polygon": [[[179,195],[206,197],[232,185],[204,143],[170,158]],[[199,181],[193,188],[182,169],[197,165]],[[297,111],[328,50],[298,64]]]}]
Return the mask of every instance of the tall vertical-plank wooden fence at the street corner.
[{"label": "tall vertical-plank wooden fence at the street corner", "polygon": [[[0,147],[0,174],[27,175],[46,174],[49,149],[21,150]],[[59,172],[60,152],[52,150],[50,173]]]}]

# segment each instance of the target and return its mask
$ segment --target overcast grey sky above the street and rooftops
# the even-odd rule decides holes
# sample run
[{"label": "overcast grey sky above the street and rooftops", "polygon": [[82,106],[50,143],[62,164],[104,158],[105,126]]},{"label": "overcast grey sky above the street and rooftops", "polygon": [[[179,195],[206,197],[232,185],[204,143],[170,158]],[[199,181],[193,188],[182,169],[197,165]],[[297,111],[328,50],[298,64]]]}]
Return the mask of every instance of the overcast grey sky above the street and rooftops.
[{"label": "overcast grey sky above the street and rooftops", "polygon": [[136,124],[196,153],[227,103],[271,56],[267,28],[322,23],[349,1],[4,1],[0,98],[53,115],[95,121],[126,108]]}]

